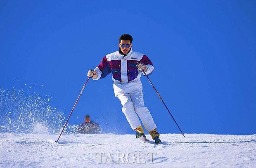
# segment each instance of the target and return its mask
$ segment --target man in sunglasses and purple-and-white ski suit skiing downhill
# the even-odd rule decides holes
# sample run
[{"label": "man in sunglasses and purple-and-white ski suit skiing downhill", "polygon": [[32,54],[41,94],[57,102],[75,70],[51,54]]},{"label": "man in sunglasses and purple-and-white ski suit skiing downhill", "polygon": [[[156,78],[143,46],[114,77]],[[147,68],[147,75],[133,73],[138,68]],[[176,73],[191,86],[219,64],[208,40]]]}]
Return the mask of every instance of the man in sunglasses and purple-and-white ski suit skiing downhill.
[{"label": "man in sunglasses and purple-and-white ski suit skiing downhill", "polygon": [[139,116],[152,139],[159,143],[161,141],[156,131],[156,124],[144,105],[140,81],[141,71],[148,75],[152,73],[154,66],[145,54],[132,50],[132,41],[131,35],[121,35],[119,50],[103,57],[100,64],[94,70],[89,70],[87,75],[93,80],[99,80],[112,73],[115,96],[121,101],[123,114],[131,128],[135,130],[136,138],[145,137]]}]

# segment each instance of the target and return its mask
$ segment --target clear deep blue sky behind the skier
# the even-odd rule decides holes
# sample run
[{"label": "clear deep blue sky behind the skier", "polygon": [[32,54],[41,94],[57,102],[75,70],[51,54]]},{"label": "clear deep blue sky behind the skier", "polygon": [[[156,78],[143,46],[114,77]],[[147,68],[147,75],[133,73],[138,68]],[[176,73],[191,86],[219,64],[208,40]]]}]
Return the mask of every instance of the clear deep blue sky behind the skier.
[{"label": "clear deep blue sky behind the skier", "polygon": [[[0,88],[50,95],[69,115],[123,33],[147,54],[150,79],[185,133],[256,133],[256,1],[0,1]],[[145,105],[160,133],[179,133],[147,79]],[[18,82],[17,82],[18,81]],[[18,83],[18,86],[17,86]],[[109,75],[90,80],[71,116],[107,132],[133,133]]]}]

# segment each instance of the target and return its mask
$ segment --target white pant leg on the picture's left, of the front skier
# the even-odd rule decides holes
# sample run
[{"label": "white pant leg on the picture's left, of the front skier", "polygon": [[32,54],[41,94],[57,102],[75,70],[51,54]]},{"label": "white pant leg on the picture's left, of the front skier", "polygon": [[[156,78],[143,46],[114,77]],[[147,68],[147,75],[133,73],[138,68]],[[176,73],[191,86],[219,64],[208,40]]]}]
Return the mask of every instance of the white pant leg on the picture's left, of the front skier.
[{"label": "white pant leg on the picture's left, of the front skier", "polygon": [[138,126],[140,126],[140,120],[135,113],[133,102],[129,94],[120,94],[117,96],[123,105],[122,111],[123,114],[126,116],[130,127],[135,130]]}]

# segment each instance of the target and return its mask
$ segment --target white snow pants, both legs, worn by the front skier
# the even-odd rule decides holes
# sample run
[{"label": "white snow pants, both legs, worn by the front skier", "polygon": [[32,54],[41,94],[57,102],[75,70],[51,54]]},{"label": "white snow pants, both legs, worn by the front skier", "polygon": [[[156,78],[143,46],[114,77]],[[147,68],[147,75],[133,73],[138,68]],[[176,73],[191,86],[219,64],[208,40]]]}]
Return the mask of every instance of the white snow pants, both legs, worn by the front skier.
[{"label": "white snow pants, both legs, worn by the front skier", "polygon": [[147,132],[156,129],[156,124],[154,123],[149,110],[144,105],[142,92],[135,91],[128,94],[120,94],[117,97],[123,105],[123,114],[126,116],[126,119],[133,130],[141,125],[138,116]]}]

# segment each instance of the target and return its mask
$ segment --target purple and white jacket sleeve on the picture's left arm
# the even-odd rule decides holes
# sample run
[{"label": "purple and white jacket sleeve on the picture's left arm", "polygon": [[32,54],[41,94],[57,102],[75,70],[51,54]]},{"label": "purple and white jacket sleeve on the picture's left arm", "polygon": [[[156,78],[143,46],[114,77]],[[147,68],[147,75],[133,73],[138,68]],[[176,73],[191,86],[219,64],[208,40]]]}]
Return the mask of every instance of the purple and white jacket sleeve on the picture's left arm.
[{"label": "purple and white jacket sleeve on the picture's left arm", "polygon": [[109,66],[109,62],[107,61],[107,57],[103,57],[100,64],[96,66],[94,71],[97,73],[97,78],[93,80],[99,80],[105,78],[109,73],[111,73],[111,69]]}]

